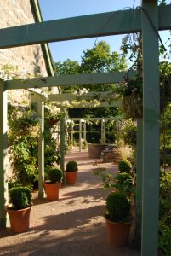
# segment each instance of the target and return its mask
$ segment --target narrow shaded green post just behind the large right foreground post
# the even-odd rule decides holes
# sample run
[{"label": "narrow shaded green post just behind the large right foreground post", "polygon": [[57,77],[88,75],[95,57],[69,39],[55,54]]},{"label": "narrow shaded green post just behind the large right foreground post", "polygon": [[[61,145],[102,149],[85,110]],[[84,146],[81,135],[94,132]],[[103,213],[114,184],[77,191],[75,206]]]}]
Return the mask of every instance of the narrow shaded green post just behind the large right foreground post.
[{"label": "narrow shaded green post just behind the large right foreground post", "polygon": [[143,172],[143,120],[137,119],[137,143],[136,143],[136,229],[134,241],[140,245],[141,218],[142,218],[142,172]]}]

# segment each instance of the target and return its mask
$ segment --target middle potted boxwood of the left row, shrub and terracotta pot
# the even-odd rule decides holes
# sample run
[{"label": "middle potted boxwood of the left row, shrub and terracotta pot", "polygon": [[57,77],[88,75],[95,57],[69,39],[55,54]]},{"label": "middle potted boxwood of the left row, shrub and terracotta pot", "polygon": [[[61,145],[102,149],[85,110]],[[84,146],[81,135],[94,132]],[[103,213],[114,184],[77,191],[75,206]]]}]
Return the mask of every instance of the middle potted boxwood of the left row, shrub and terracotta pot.
[{"label": "middle potted boxwood of the left row, shrub and terracotta pot", "polygon": [[58,200],[60,194],[60,185],[63,178],[60,168],[49,166],[47,170],[48,180],[44,182],[44,190],[47,199],[50,201]]}]

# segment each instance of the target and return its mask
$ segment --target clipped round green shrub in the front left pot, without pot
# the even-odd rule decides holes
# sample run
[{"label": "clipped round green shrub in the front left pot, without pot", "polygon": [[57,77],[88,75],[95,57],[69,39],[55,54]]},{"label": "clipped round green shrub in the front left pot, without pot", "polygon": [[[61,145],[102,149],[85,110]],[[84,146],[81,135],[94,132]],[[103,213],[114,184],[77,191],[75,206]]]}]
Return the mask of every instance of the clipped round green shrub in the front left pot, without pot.
[{"label": "clipped round green shrub in the front left pot, without pot", "polygon": [[15,187],[9,190],[9,201],[14,210],[20,210],[31,205],[31,189]]}]

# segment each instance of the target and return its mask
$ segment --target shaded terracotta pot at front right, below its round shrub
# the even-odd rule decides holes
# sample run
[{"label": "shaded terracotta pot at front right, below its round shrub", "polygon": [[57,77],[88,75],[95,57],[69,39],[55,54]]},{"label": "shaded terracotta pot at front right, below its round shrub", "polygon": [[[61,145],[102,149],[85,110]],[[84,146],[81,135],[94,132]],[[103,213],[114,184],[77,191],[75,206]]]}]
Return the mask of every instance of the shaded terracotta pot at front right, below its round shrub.
[{"label": "shaded terracotta pot at front right, below its round shrub", "polygon": [[112,246],[126,247],[132,222],[119,224],[106,219],[108,239]]}]

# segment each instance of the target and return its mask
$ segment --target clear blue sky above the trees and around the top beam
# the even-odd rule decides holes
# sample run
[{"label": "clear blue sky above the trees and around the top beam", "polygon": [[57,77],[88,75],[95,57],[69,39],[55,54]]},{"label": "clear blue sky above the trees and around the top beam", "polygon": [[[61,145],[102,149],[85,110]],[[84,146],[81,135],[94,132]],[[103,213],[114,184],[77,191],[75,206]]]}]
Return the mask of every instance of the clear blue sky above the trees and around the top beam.
[{"label": "clear blue sky above the trees and around the top beam", "polygon": [[[43,20],[58,20],[68,17],[92,15],[98,13],[111,12],[121,9],[128,9],[134,6],[140,6],[140,0],[39,0]],[[161,32],[162,40],[167,40],[168,34]],[[105,40],[111,47],[111,51],[119,51],[122,44],[123,35],[86,38],[78,40],[70,40],[65,42],[50,43],[51,53],[54,62],[66,61],[81,61],[83,50],[92,49],[94,42]]]}]

